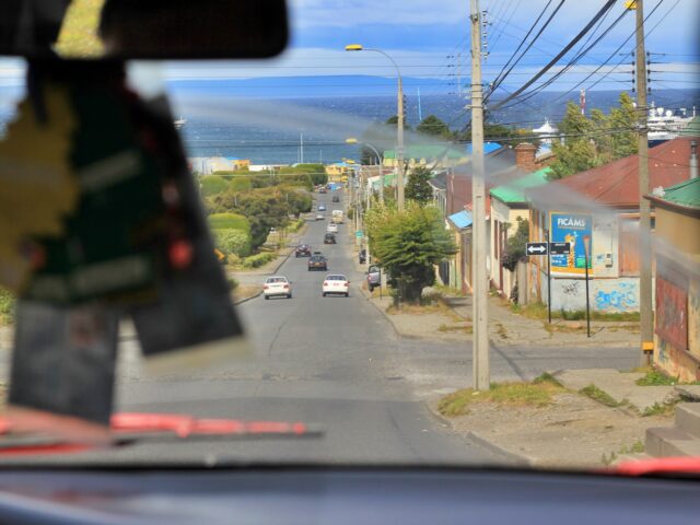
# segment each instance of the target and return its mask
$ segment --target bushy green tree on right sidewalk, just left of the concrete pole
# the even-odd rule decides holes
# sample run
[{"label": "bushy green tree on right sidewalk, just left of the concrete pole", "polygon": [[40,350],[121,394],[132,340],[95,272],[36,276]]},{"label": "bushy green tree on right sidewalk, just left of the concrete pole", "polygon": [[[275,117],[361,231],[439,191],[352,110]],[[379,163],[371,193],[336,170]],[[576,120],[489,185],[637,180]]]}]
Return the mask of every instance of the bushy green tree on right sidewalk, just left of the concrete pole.
[{"label": "bushy green tree on right sidewalk, just left of the concrete pole", "polygon": [[390,276],[397,299],[420,303],[423,288],[434,283],[434,265],[457,252],[435,208],[408,202],[404,211],[377,206],[365,225],[376,260]]}]

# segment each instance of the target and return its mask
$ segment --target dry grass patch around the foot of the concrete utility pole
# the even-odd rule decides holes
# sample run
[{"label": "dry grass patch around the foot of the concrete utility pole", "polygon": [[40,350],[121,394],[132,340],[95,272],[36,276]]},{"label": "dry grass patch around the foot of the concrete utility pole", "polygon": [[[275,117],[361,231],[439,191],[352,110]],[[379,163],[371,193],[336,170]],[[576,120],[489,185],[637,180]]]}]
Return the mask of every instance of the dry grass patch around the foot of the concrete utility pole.
[{"label": "dry grass patch around the foot of the concrete utility pole", "polygon": [[549,374],[539,376],[532,383],[493,383],[488,392],[463,388],[440,399],[438,411],[445,417],[469,413],[469,406],[477,402],[492,402],[499,406],[546,407],[553,396],[564,388]]}]

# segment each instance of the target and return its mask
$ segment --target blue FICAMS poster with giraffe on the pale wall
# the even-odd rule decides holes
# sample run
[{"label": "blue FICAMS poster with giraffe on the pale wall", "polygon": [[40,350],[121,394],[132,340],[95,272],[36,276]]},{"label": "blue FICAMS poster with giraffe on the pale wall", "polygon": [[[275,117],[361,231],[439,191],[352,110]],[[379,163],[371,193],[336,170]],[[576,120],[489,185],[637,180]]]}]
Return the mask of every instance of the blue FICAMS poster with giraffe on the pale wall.
[{"label": "blue FICAMS poster with giraffe on the pale wall", "polygon": [[[568,254],[551,255],[552,275],[575,275],[585,273],[585,246],[584,238],[588,238],[590,246],[593,246],[593,219],[590,214],[561,213],[552,211],[549,214],[549,232],[551,243],[569,243]],[[593,276],[591,264],[592,255],[588,254],[588,275]]]}]

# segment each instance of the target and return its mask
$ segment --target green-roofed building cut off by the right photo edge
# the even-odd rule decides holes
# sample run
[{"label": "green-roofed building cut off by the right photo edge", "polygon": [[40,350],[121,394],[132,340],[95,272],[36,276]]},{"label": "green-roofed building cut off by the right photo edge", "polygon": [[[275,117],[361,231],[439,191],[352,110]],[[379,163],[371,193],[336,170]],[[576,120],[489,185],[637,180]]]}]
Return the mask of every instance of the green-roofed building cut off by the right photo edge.
[{"label": "green-roofed building cut off by the right photo edge", "polygon": [[700,177],[645,198],[656,212],[654,364],[700,381]]}]

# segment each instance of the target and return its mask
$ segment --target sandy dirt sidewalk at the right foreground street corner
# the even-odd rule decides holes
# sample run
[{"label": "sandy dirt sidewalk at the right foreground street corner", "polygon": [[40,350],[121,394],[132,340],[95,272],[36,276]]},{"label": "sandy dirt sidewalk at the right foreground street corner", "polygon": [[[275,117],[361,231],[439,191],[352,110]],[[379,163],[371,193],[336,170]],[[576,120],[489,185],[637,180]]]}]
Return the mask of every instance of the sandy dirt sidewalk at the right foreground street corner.
[{"label": "sandy dirt sidewalk at the right foreground street corner", "polygon": [[[438,399],[428,406],[458,434],[516,463],[599,468],[640,455],[646,430],[672,424],[681,398],[700,401],[699,385],[637,385],[643,375],[565,370],[555,374],[563,388],[544,407],[474,402],[464,416],[444,417]],[[591,385],[596,387],[592,394],[581,393]]]}]

